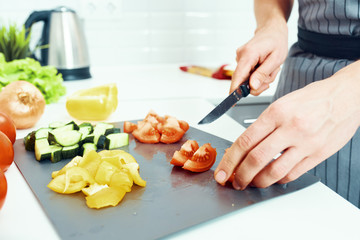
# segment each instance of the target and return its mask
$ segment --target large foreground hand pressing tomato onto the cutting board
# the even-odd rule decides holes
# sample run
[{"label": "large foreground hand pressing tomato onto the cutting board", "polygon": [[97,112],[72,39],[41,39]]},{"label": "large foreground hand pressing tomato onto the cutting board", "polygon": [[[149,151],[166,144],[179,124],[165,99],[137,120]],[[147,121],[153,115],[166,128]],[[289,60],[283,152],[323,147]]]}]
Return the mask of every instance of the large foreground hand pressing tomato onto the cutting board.
[{"label": "large foreground hand pressing tomato onto the cutting board", "polygon": [[226,152],[216,181],[235,172],[235,189],[287,183],[337,152],[359,127],[358,69],[360,61],[271,104]]}]

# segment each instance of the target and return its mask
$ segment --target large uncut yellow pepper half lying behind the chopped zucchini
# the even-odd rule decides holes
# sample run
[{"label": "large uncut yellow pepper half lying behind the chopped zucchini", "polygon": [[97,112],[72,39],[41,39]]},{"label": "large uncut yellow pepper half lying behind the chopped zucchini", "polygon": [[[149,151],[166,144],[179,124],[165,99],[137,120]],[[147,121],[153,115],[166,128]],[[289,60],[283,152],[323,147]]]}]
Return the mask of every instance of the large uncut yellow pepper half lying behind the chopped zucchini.
[{"label": "large uncut yellow pepper half lying behind the chopped zucchini", "polygon": [[117,95],[115,83],[79,90],[66,99],[66,109],[79,120],[105,120],[117,108]]}]

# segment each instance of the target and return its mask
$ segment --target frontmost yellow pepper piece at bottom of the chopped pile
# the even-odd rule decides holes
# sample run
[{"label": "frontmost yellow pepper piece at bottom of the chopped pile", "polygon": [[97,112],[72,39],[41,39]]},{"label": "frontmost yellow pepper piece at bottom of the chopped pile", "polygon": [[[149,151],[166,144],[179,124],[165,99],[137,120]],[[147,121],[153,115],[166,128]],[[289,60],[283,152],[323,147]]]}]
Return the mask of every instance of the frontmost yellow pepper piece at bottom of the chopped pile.
[{"label": "frontmost yellow pepper piece at bottom of the chopped pile", "polygon": [[93,195],[86,197],[86,204],[89,208],[103,208],[116,206],[124,198],[126,191],[121,188],[103,188]]}]

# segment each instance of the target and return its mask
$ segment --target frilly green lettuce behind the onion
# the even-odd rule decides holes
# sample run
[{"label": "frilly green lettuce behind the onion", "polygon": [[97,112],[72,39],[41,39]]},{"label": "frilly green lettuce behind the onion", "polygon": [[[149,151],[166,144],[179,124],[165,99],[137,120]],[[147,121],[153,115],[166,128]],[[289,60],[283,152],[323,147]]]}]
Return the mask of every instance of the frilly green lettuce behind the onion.
[{"label": "frilly green lettuce behind the onion", "polygon": [[0,52],[0,91],[11,82],[24,80],[34,84],[44,95],[46,104],[57,102],[65,95],[61,73],[53,66],[41,66],[33,58],[6,62]]}]

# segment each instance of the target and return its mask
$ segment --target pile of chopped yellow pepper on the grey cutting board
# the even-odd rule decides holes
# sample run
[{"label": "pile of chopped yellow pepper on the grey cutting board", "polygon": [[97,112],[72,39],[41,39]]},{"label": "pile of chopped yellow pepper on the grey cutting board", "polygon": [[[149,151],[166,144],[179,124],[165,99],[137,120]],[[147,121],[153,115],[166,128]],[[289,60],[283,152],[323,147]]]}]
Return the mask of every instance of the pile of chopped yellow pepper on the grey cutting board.
[{"label": "pile of chopped yellow pepper on the grey cutting board", "polygon": [[122,150],[88,151],[52,173],[51,190],[71,194],[82,191],[89,208],[116,206],[135,183],[145,187],[135,158]]}]

